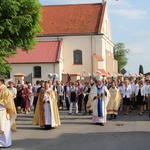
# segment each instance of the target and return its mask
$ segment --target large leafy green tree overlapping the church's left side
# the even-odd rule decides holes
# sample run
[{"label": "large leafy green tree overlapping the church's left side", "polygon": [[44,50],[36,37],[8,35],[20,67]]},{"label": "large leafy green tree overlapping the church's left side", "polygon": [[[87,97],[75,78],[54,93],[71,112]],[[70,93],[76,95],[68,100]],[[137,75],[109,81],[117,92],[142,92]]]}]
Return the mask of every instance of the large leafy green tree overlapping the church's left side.
[{"label": "large leafy green tree overlapping the church's left side", "polygon": [[0,1],[0,76],[11,70],[7,58],[17,54],[17,48],[28,52],[36,45],[40,20],[38,0]]}]

